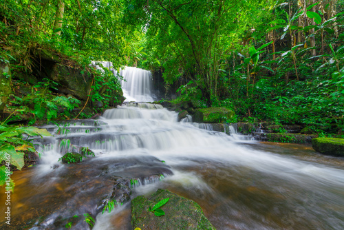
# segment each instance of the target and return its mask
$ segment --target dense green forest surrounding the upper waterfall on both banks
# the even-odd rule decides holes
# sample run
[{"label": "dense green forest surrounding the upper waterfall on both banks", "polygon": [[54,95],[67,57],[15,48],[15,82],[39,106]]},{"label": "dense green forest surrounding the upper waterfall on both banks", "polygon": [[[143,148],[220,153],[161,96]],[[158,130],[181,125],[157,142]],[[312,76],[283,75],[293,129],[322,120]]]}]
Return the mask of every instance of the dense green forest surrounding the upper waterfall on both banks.
[{"label": "dense green forest surrounding the upper waterfall on both banks", "polygon": [[[228,107],[236,116],[227,122],[343,137],[343,9],[342,0],[1,0],[0,143],[32,149],[21,138],[8,144],[38,132],[9,126],[16,119],[85,118],[120,104],[119,79],[92,61],[151,70],[164,79],[161,101]],[[88,94],[61,94],[42,77],[43,59],[78,69]]]}]

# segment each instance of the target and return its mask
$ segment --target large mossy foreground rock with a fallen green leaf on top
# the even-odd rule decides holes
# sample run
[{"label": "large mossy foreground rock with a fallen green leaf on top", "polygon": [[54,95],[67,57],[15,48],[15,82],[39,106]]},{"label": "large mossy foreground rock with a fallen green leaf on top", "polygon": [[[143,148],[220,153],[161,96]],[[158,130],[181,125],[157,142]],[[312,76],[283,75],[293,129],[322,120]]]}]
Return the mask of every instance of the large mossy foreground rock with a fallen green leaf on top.
[{"label": "large mossy foreground rock with a fallen green leaf on top", "polygon": [[[164,216],[155,216],[149,211],[160,200],[169,198],[166,205],[160,207]],[[138,196],[131,200],[131,224],[133,229],[215,229],[204,216],[202,208],[193,200],[183,198],[171,191],[158,189],[150,198]]]}]

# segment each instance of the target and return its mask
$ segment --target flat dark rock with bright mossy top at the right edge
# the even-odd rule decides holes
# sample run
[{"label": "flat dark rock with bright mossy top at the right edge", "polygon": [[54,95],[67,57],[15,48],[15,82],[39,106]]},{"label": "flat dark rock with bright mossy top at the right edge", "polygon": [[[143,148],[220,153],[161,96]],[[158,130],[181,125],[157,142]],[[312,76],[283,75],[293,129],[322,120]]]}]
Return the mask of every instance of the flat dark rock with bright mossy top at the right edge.
[{"label": "flat dark rock with bright mossy top at the right edge", "polygon": [[344,156],[343,138],[314,138],[312,147],[321,154]]}]

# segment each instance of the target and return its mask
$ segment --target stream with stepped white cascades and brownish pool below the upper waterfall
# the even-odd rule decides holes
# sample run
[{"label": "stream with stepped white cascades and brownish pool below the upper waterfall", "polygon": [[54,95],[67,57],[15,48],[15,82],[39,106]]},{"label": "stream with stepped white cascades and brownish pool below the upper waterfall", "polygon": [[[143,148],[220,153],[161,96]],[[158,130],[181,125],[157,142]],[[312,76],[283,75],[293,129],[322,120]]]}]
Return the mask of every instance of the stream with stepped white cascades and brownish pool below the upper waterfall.
[{"label": "stream with stepped white cascades and brownish pool below the upper waterfall", "polygon": [[[178,122],[176,112],[151,103],[125,103],[98,120],[45,128],[54,136],[35,140],[41,164],[14,175],[14,229],[63,229],[83,213],[98,213],[95,230],[130,229],[125,196],[114,196],[123,205],[111,213],[96,210],[96,198],[120,191],[121,178],[135,178],[126,185],[131,198],[164,188],[195,200],[217,229],[344,229],[344,160],[311,147],[237,142]],[[58,162],[80,147],[96,157]],[[75,229],[88,228],[77,220]]]}]

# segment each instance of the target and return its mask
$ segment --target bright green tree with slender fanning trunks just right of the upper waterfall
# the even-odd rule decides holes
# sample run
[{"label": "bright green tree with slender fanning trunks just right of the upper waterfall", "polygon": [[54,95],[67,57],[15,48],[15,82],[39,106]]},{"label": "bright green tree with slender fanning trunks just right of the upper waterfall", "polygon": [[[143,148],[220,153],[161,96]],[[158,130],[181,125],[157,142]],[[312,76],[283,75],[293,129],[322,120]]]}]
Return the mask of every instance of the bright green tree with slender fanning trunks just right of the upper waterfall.
[{"label": "bright green tree with slender fanning trunks just right of the upper waterfall", "polygon": [[134,14],[136,23],[139,21],[146,26],[148,39],[155,41],[153,50],[171,50],[168,62],[174,59],[172,62],[178,63],[184,77],[197,83],[206,104],[211,106],[212,96],[217,96],[219,71],[225,65],[231,43],[250,27],[251,18],[246,13],[257,13],[247,6],[259,5],[257,3],[259,1],[134,1],[127,15]]}]

